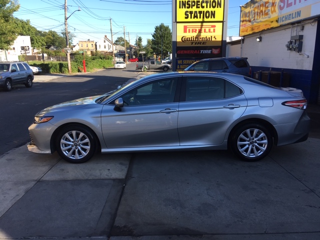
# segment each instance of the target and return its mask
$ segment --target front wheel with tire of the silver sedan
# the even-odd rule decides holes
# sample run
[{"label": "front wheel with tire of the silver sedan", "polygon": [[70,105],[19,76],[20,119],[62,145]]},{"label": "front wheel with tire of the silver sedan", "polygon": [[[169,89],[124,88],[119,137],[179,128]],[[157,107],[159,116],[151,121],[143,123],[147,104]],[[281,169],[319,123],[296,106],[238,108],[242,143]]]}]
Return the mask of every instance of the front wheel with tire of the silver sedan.
[{"label": "front wheel with tire of the silver sedan", "polygon": [[97,145],[92,131],[80,125],[62,128],[57,134],[55,144],[59,155],[71,163],[82,163],[89,160]]}]

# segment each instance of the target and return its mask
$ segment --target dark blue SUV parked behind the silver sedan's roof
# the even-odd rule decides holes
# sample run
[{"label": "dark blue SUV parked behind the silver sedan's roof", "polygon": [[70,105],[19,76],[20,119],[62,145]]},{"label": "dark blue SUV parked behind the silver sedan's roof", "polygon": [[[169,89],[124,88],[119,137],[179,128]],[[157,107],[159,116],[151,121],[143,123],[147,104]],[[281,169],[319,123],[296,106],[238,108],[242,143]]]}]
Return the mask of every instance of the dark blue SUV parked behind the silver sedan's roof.
[{"label": "dark blue SUV parked behind the silver sedan's roof", "polygon": [[201,59],[193,62],[184,71],[228,72],[251,76],[251,67],[247,61],[247,57],[238,56]]}]

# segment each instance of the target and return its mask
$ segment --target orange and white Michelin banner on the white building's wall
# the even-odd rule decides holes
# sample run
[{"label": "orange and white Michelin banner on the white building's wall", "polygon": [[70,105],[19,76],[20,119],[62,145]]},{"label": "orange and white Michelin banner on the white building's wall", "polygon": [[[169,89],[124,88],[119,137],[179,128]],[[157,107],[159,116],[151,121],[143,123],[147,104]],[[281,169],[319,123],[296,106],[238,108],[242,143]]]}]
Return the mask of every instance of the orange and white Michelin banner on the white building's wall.
[{"label": "orange and white Michelin banner on the white building's wall", "polygon": [[319,0],[251,0],[241,6],[240,36],[320,15]]}]

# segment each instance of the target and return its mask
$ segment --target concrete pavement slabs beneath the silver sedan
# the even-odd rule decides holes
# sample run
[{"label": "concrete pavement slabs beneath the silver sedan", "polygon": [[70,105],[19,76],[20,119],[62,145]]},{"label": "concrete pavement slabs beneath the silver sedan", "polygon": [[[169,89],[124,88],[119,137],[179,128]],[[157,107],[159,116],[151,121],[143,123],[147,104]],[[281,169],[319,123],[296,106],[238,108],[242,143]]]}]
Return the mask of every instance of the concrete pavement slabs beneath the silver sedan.
[{"label": "concrete pavement slabs beneath the silver sedan", "polygon": [[[45,80],[45,79],[43,79]],[[319,107],[310,137],[231,152],[0,156],[0,239],[320,239]]]}]

